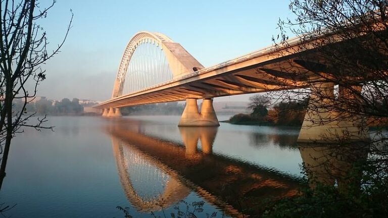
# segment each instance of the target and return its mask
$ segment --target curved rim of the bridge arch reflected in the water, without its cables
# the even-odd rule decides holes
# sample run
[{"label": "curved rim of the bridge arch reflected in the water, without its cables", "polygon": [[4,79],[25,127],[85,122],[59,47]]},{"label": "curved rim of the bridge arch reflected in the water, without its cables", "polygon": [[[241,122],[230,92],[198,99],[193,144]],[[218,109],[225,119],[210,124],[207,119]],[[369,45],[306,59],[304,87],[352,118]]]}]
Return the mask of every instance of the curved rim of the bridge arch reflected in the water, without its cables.
[{"label": "curved rim of the bridge arch reflected in the water, without its cables", "polygon": [[[112,149],[117,163],[117,170],[120,177],[121,185],[124,189],[125,195],[129,202],[137,208],[139,211],[157,211],[160,210],[160,204],[163,206],[169,206],[181,199],[184,199],[190,192],[190,190],[182,183],[178,182],[174,177],[170,176],[164,188],[164,192],[151,200],[143,199],[133,187],[130,179],[130,173],[126,168],[126,159],[124,157],[124,149],[130,149],[130,152],[135,154],[139,158],[145,158],[147,155],[136,150],[131,146],[120,145],[119,139],[112,137]],[[147,158],[148,162],[149,158]]]}]

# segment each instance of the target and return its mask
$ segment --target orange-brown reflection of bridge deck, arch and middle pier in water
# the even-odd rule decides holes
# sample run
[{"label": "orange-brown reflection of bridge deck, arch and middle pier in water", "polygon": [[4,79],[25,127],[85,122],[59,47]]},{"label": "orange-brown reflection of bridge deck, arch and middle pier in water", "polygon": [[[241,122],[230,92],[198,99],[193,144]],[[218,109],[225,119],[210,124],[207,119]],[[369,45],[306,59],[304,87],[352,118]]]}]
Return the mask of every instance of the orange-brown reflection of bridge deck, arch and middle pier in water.
[{"label": "orange-brown reflection of bridge deck, arch and middle pier in water", "polygon": [[[140,129],[136,123],[115,123],[109,129],[123,189],[139,210],[157,210],[158,206],[151,204],[161,198],[164,199],[163,205],[171,205],[188,194],[187,187],[233,216],[241,215],[236,209],[256,214],[265,199],[297,193],[299,181],[292,177],[212,154],[216,128],[180,128],[184,146],[147,136]],[[198,141],[201,141],[202,151],[197,150]],[[131,163],[124,158],[125,149],[169,175],[163,193],[149,200],[136,194],[131,185],[131,173],[126,167]]]}]

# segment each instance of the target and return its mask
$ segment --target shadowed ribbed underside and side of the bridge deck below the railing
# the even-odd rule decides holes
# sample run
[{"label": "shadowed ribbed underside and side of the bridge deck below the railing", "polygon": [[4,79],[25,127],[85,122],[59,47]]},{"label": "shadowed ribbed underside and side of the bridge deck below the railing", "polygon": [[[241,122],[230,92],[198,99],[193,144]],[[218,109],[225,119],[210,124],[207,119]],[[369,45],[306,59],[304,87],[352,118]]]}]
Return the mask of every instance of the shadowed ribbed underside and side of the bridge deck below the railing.
[{"label": "shadowed ribbed underside and side of the bridge deck below the railing", "polygon": [[[301,75],[308,74],[309,70],[301,65],[290,63],[289,60],[254,65],[252,62],[257,63],[258,60],[248,60],[214,70],[209,69],[202,73],[196,72],[136,93],[112,98],[96,107],[118,108],[182,101],[187,98],[205,99],[308,87],[302,78],[294,78],[294,75],[285,73],[285,69],[296,69]],[[294,66],[291,66],[292,64]]]}]

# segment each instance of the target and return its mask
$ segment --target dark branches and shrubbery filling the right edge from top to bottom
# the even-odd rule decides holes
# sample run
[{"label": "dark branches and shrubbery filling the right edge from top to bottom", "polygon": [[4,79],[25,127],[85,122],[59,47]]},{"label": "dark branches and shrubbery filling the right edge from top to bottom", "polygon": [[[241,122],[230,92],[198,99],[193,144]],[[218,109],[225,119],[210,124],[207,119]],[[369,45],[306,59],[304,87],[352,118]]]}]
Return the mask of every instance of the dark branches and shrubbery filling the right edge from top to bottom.
[{"label": "dark branches and shrubbery filling the right edge from top to bottom", "polygon": [[[280,33],[273,41],[279,56],[295,54],[277,66],[292,84],[280,81],[277,85],[298,88],[298,82],[304,81],[308,88],[267,96],[280,101],[310,96],[307,121],[314,126],[346,126],[342,134],[325,133],[330,138],[327,143],[345,152],[321,153],[326,161],[314,173],[304,166],[311,189],[269,205],[264,217],[388,216],[388,138],[380,128],[388,118],[387,7],[386,0],[290,1],[296,19],[280,20]],[[287,31],[299,38],[297,45],[289,43]],[[377,126],[370,140],[352,138],[362,136],[370,125]],[[355,141],[367,149],[358,152]],[[345,154],[355,153],[361,155],[344,161]],[[340,161],[331,164],[338,157]],[[313,175],[324,169],[326,178],[317,180]]]}]

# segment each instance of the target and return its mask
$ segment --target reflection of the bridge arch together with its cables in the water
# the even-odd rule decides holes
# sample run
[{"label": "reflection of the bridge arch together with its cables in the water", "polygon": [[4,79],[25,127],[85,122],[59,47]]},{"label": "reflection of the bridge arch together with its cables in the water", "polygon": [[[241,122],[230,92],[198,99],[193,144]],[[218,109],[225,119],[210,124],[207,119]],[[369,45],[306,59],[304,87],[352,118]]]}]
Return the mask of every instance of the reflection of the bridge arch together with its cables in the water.
[{"label": "reflection of the bridge arch together with its cables in the water", "polygon": [[[185,198],[190,192],[189,188],[179,183],[174,176],[168,175],[165,168],[158,169],[160,166],[152,157],[140,150],[124,145],[117,138],[112,137],[113,153],[117,161],[117,170],[121,185],[129,202],[139,211],[151,212],[160,209],[160,204],[170,206],[173,203]],[[131,181],[130,174],[141,173],[144,181],[159,182],[164,185],[164,190],[154,193],[156,196],[144,196],[144,193],[138,193],[135,185]],[[143,188],[143,187],[140,187]],[[148,187],[155,188],[155,187]],[[141,191],[141,190],[140,190]],[[153,191],[150,190],[149,191]]]}]

